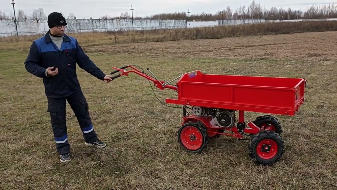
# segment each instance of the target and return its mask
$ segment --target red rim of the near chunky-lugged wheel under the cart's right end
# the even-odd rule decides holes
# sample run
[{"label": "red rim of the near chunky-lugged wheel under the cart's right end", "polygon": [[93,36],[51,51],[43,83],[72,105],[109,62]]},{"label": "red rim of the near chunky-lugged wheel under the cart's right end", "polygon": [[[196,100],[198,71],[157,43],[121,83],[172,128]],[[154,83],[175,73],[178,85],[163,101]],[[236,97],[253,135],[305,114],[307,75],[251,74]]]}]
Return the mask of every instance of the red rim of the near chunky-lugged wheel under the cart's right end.
[{"label": "red rim of the near chunky-lugged wheel under the cart's right end", "polygon": [[260,141],[256,147],[257,155],[262,159],[272,159],[278,151],[277,144],[272,139],[264,139]]}]

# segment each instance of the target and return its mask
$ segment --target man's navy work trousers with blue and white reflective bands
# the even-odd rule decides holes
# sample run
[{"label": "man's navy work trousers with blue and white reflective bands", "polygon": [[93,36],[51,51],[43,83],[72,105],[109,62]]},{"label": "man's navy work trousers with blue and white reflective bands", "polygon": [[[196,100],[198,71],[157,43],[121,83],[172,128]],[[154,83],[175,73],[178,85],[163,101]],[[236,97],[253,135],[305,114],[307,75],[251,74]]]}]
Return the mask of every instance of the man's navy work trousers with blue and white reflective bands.
[{"label": "man's navy work trousers with blue and white reflective bands", "polygon": [[90,143],[97,140],[97,135],[89,116],[89,106],[82,90],[64,98],[47,98],[48,112],[51,117],[56,149],[60,155],[69,153],[66,125],[66,101],[69,103],[79,122],[85,142]]}]

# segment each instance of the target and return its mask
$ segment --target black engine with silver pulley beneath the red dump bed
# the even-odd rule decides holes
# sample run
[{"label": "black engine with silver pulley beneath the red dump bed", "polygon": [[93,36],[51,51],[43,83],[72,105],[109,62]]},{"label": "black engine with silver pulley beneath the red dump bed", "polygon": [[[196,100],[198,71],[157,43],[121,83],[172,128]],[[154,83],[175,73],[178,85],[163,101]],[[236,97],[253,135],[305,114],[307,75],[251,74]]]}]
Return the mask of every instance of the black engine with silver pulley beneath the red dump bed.
[{"label": "black engine with silver pulley beneath the red dump bed", "polygon": [[235,111],[226,109],[204,108],[193,106],[192,112],[196,116],[213,117],[215,123],[220,127],[231,127],[235,122]]}]

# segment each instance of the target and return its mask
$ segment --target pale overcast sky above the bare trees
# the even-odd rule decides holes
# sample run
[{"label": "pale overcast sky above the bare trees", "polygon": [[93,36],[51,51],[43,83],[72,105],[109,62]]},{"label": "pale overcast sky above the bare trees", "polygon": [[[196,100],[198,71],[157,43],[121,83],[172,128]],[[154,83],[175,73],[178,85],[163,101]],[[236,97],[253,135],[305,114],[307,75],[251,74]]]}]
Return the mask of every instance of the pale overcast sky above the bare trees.
[{"label": "pale overcast sky above the bare trees", "polygon": [[[277,0],[276,0],[277,1]],[[270,8],[283,7],[306,10],[311,5],[323,5],[337,2],[337,0],[255,0],[261,3],[262,7]],[[0,10],[7,15],[13,13],[12,0],[0,0]],[[14,0],[16,13],[19,9],[31,14],[33,9],[43,8],[48,16],[53,11],[62,12],[65,17],[73,13],[78,18],[99,18],[100,16],[120,16],[125,11],[131,15],[131,5],[133,6],[133,16],[150,16],[158,13],[173,13],[176,11],[188,11],[191,14],[216,13],[218,10],[231,6],[233,13],[240,5],[246,7],[252,0]],[[335,3],[336,3],[335,2]],[[336,3],[337,4],[337,3]],[[13,15],[13,14],[12,14]]]}]

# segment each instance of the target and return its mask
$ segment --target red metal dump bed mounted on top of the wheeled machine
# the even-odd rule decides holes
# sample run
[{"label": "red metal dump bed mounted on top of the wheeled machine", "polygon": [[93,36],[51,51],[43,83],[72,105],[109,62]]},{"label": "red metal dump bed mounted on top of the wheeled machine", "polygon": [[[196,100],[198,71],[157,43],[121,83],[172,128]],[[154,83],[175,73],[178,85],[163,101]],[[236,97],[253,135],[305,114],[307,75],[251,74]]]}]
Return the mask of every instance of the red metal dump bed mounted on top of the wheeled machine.
[{"label": "red metal dump bed mounted on top of the wheeled machine", "polygon": [[178,99],[166,103],[295,115],[304,102],[303,78],[203,74],[193,71],[177,82]]}]

